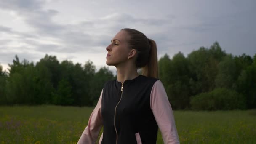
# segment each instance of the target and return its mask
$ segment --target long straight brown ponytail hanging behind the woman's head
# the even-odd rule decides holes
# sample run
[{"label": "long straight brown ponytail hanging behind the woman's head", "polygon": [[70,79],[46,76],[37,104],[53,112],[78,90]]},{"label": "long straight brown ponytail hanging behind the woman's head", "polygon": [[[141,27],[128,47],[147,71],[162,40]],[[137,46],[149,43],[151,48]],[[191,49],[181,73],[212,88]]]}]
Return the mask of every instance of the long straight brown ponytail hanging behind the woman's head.
[{"label": "long straight brown ponytail hanging behind the woman's head", "polygon": [[145,67],[142,68],[142,75],[146,77],[158,78],[158,61],[157,61],[157,45],[154,40],[149,40],[149,60]]}]

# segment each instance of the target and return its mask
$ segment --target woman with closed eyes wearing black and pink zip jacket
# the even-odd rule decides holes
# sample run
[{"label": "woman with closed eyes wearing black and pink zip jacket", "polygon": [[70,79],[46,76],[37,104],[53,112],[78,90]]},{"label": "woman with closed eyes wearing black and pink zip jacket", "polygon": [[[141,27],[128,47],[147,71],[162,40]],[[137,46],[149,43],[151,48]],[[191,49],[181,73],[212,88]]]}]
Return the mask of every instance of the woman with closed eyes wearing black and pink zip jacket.
[{"label": "woman with closed eyes wearing black and pink zip jacket", "polygon": [[[122,29],[107,46],[117,80],[107,81],[79,144],[156,144],[160,128],[165,144],[179,144],[173,111],[158,79],[157,48],[135,29]],[[137,72],[142,68],[142,75]]]}]

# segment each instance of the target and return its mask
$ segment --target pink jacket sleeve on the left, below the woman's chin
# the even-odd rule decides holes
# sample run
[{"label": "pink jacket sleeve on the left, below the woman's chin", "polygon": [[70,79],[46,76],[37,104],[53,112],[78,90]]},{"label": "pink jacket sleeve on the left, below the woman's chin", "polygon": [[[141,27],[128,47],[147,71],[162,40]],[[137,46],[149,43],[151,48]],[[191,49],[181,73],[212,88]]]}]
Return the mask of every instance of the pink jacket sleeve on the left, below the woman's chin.
[{"label": "pink jacket sleeve on the left, below the woman's chin", "polygon": [[101,95],[99,97],[99,101],[96,107],[93,109],[91,116],[89,118],[88,125],[86,126],[85,130],[82,133],[77,144],[95,144],[99,131],[102,127],[102,120],[101,120],[101,98],[102,98],[103,89],[101,91]]}]

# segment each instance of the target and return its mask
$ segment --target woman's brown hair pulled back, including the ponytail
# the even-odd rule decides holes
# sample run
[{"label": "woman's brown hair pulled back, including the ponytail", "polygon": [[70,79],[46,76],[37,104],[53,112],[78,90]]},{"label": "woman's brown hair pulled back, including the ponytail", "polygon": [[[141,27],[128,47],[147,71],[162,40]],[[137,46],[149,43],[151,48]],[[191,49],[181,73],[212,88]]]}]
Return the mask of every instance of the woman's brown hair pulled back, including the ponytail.
[{"label": "woman's brown hair pulled back, including the ponytail", "polygon": [[142,75],[158,78],[157,45],[154,40],[148,39],[146,35],[136,29],[124,28],[128,32],[128,40],[131,48],[136,49],[138,56],[136,67],[142,68]]}]

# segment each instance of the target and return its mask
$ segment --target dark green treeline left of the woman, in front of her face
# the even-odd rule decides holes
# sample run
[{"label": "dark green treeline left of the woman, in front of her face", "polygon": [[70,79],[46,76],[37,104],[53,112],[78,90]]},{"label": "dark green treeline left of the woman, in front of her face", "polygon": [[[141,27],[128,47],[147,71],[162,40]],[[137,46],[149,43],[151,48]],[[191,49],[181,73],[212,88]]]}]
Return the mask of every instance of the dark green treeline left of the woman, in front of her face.
[{"label": "dark green treeline left of the woman, in front of her face", "polygon": [[36,64],[15,56],[9,67],[9,74],[0,67],[0,104],[93,106],[104,82],[115,78],[107,67],[96,72],[92,61],[59,62],[47,54]]}]

